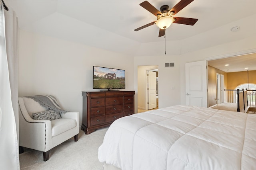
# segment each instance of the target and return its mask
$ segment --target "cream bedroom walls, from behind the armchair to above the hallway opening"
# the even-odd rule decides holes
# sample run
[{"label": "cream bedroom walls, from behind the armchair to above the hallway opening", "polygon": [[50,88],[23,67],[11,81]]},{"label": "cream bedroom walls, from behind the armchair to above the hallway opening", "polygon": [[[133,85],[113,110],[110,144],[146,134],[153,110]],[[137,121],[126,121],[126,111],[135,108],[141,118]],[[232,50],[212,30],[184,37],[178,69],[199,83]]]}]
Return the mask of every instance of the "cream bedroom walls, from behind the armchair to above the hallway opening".
[{"label": "cream bedroom walls, from behind the armchair to above the hallway opening", "polygon": [[[170,51],[166,55],[161,55],[164,47],[157,46],[159,55],[134,57],[24,30],[20,30],[19,36],[19,96],[52,94],[64,109],[80,111],[81,117],[81,91],[97,91],[92,89],[93,65],[126,70],[125,90],[136,90],[134,108],[137,112],[138,66],[158,65],[159,108],[184,105],[185,63],[256,48],[254,35],[182,55],[171,55],[174,46],[166,42],[166,49]],[[156,46],[155,43],[145,45],[146,49]],[[165,67],[165,63],[175,63],[175,66]]]}]

